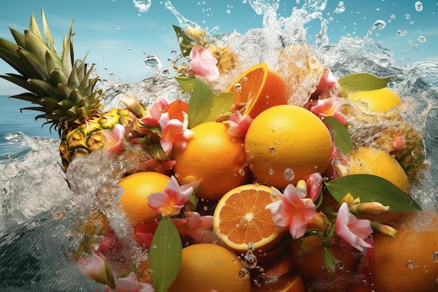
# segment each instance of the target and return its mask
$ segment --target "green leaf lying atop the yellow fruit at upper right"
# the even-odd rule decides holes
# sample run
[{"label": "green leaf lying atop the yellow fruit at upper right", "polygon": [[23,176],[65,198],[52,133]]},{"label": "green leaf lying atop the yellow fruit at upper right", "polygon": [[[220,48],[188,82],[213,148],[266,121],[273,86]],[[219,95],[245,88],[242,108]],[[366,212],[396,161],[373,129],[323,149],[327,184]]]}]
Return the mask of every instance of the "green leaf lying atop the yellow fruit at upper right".
[{"label": "green leaf lying atop the yellow fruit at upper right", "polygon": [[346,90],[377,90],[385,88],[391,77],[377,77],[369,73],[353,73],[338,79],[341,88]]}]

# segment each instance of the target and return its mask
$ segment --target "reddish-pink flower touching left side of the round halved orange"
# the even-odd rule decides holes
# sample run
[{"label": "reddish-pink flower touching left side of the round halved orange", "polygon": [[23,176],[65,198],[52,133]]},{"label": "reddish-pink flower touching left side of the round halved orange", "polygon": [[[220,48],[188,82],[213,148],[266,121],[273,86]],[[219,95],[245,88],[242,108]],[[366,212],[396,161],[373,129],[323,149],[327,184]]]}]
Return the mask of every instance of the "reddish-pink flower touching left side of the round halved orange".
[{"label": "reddish-pink flower touching left side of the round halved orange", "polygon": [[195,211],[184,212],[184,218],[172,218],[178,233],[187,235],[197,243],[211,242],[213,216],[201,216]]}]

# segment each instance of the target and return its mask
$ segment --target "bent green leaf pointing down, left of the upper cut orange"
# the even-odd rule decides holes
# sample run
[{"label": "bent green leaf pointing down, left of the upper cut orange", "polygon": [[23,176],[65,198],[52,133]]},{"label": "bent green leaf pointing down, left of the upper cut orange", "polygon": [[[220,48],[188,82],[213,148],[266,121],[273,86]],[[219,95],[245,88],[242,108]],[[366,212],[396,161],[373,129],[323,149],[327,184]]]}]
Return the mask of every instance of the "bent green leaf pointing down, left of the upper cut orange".
[{"label": "bent green leaf pointing down, left of the upper cut orange", "polygon": [[180,85],[182,84],[181,87],[184,90],[191,93],[188,109],[188,128],[204,123],[213,109],[213,91],[200,78],[176,77],[176,80]]}]

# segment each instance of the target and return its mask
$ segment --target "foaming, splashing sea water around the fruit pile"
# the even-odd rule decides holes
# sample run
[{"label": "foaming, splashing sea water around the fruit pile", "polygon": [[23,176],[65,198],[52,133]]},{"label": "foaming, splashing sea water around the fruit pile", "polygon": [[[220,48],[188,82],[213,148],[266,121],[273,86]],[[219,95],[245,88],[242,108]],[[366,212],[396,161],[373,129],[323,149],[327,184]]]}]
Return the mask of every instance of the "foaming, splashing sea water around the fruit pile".
[{"label": "foaming, splashing sea water around the fruit pile", "polygon": [[[258,1],[250,2],[255,5]],[[260,9],[260,13],[266,15],[264,29],[254,29],[244,35],[236,32],[224,34],[221,40],[231,43],[238,53],[246,55],[244,62],[248,65],[271,62],[273,56],[264,53],[267,52],[265,48],[269,47],[269,52],[273,52],[285,42],[303,43],[306,34],[303,25],[320,18],[323,4],[324,1],[306,2],[306,9],[296,10],[293,17],[281,20],[276,18],[276,13],[269,11],[269,7],[254,6],[255,10]],[[168,8],[171,10],[172,6]],[[176,16],[181,23],[185,21],[182,15],[176,13]],[[392,64],[390,50],[380,43],[368,37],[353,36],[328,43],[324,29],[316,41],[315,53],[337,77],[357,71],[393,76],[390,87],[409,104],[404,118],[412,120],[423,132],[426,158],[430,162],[421,187],[413,194],[422,207],[436,208],[438,64],[418,62],[397,67]],[[277,68],[281,66],[276,62],[271,64]],[[151,100],[163,92],[171,92],[169,95],[173,97],[178,95],[172,78],[153,78],[161,78],[162,82],[150,82],[153,79],[149,79],[137,84],[99,84],[108,92],[106,106],[118,105],[121,88],[137,97],[148,96]],[[151,86],[155,95],[150,95]],[[24,111],[20,120],[8,119],[11,111],[18,111],[27,104],[0,98],[1,118],[8,120],[0,123],[1,291],[94,291],[99,285],[83,277],[68,255],[69,232],[80,214],[80,203],[87,200],[86,197],[78,198],[78,195],[86,195],[86,192],[80,190],[83,193],[75,194],[66,183],[66,174],[60,166],[57,133],[50,134],[47,126],[41,128],[41,123],[35,123],[33,112]],[[71,181],[80,186],[80,175]]]}]

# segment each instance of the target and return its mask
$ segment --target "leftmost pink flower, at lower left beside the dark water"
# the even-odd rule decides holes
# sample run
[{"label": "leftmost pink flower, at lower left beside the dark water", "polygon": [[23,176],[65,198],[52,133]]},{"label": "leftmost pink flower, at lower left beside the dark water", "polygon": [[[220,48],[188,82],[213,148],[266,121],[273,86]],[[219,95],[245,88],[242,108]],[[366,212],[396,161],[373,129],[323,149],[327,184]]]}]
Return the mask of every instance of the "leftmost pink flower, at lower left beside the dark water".
[{"label": "leftmost pink flower, at lower left beside the dark water", "polygon": [[114,287],[114,274],[108,261],[101,253],[93,251],[91,258],[79,258],[79,271],[97,283]]}]

